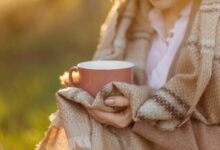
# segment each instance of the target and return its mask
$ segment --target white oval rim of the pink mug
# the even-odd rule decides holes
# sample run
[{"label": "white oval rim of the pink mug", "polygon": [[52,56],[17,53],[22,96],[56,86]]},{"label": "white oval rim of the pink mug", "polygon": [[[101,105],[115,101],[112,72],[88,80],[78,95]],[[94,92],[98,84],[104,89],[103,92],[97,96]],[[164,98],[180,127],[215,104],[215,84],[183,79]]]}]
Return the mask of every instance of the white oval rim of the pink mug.
[{"label": "white oval rim of the pink mug", "polygon": [[[88,67],[85,66],[86,64],[89,63],[97,63],[97,62],[101,62],[101,63],[119,63],[121,65],[124,66],[120,66],[120,67],[113,67],[113,68],[92,68],[92,67]],[[78,68],[82,68],[82,69],[89,69],[89,70],[120,70],[120,69],[128,69],[128,68],[133,68],[135,65],[132,62],[129,61],[120,61],[120,60],[92,60],[92,61],[84,61],[81,62],[77,65]]]}]

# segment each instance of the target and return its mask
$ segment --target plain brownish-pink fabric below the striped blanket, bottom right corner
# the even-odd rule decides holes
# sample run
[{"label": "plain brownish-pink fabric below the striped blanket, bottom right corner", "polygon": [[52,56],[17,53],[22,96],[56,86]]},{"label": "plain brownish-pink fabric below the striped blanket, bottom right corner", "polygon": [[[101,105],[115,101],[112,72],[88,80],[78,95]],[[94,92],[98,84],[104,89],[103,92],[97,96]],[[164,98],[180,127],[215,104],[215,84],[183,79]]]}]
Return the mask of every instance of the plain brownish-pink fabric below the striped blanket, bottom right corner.
[{"label": "plain brownish-pink fabric below the striped blanket, bottom right corner", "polygon": [[220,127],[193,119],[174,131],[158,130],[145,121],[136,123],[133,131],[167,150],[218,150],[220,147]]}]

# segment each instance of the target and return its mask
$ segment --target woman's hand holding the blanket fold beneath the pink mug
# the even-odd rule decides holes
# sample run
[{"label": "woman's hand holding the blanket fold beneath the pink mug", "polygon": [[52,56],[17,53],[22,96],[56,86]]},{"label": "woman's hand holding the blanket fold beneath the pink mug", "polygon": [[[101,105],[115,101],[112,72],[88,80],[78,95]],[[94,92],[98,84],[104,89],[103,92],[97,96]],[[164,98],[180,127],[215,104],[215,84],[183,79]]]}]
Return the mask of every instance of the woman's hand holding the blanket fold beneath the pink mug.
[{"label": "woman's hand holding the blanket fold beneath the pink mug", "polygon": [[87,112],[98,122],[114,126],[116,128],[125,128],[132,122],[132,113],[129,100],[123,96],[111,96],[105,100],[105,105],[116,107],[127,107],[120,113],[109,113],[100,110],[86,108]]}]

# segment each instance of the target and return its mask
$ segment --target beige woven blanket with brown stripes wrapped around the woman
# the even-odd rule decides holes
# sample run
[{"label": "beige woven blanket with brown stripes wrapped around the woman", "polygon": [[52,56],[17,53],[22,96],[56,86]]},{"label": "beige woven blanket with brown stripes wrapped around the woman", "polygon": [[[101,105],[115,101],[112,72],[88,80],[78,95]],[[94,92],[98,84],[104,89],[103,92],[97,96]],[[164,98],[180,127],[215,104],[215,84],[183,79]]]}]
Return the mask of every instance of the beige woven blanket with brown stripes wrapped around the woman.
[{"label": "beige woven blanket with brown stripes wrapped around the woman", "polygon": [[[135,83],[143,85],[146,81],[147,49],[154,32],[148,21],[150,5],[146,0],[115,3],[102,26],[101,44],[94,59],[134,62]],[[175,74],[163,88],[152,92],[147,86],[110,83],[95,99],[76,88],[60,90],[57,93],[59,112],[53,116],[52,125],[37,149],[68,149],[67,143],[69,148],[80,150],[159,149],[130,128],[115,129],[97,123],[79,105],[115,112],[117,109],[106,107],[103,99],[119,93],[130,100],[135,121],[145,120],[162,130],[181,127],[192,114],[205,124],[219,124],[220,90],[216,89],[220,87],[220,65],[215,62],[219,58],[215,50],[220,48],[217,44],[220,39],[216,38],[219,34],[216,32],[219,3],[204,0],[198,11],[199,3],[197,0],[194,2],[193,12],[196,13],[191,16],[191,30],[188,30],[189,35],[181,47]],[[63,79],[63,83],[68,85],[68,80]]]}]

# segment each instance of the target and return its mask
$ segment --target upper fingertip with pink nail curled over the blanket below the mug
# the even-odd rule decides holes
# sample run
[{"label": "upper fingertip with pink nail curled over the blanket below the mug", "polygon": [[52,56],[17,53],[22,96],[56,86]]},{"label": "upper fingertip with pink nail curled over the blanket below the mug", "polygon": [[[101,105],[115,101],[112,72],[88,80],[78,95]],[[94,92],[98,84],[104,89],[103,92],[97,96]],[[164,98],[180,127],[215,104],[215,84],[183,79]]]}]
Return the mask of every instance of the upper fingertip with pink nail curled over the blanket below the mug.
[{"label": "upper fingertip with pink nail curled over the blanket below the mug", "polygon": [[107,106],[127,107],[130,105],[129,100],[124,96],[111,96],[105,100]]}]

